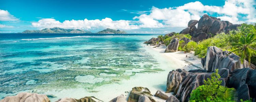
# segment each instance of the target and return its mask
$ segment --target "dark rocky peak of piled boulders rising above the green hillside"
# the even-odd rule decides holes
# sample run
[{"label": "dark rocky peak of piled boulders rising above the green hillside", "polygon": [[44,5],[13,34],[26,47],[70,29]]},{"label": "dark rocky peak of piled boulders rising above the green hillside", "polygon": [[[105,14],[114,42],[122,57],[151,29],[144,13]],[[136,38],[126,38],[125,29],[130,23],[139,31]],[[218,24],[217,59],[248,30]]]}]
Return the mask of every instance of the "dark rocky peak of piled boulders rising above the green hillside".
[{"label": "dark rocky peak of piled boulders rising above the green hillside", "polygon": [[[198,24],[197,27],[196,24]],[[194,41],[200,41],[211,37],[209,36],[211,34],[216,35],[221,32],[229,33],[231,30],[237,30],[237,27],[239,26],[241,25],[232,24],[229,21],[221,21],[219,18],[205,14],[199,19],[199,21],[190,20],[187,28],[182,30],[180,33],[190,34],[195,38]]]}]

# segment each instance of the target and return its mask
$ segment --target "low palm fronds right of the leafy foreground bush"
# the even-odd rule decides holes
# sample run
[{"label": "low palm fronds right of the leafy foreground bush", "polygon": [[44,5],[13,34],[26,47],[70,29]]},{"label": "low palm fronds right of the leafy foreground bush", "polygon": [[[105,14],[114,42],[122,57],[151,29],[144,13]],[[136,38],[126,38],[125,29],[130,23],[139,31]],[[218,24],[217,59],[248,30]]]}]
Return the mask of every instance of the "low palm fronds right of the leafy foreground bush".
[{"label": "low palm fronds right of the leafy foreground bush", "polygon": [[237,91],[234,88],[227,88],[224,86],[219,86],[218,91],[217,91],[217,96],[219,98],[222,98],[224,100],[232,100],[232,101],[237,101]]}]

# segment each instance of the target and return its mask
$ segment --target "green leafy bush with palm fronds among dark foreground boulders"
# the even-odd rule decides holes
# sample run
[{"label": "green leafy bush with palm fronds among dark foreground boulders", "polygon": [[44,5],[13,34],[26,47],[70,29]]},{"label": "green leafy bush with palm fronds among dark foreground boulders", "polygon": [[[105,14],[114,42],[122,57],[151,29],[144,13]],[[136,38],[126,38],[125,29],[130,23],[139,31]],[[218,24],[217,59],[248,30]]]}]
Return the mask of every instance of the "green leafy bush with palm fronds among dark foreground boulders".
[{"label": "green leafy bush with palm fronds among dark foreground boulders", "polygon": [[204,85],[192,91],[189,100],[191,102],[235,102],[236,90],[221,86],[220,78],[218,69],[216,69],[211,78],[208,78],[207,81],[204,80]]}]

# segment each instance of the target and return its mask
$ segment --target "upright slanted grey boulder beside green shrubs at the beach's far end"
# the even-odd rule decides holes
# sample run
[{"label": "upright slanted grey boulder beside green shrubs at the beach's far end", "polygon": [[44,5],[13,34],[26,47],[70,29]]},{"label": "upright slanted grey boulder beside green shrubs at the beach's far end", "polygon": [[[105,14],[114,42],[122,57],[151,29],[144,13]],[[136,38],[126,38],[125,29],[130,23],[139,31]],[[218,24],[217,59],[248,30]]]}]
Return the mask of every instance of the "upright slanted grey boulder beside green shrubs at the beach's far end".
[{"label": "upright slanted grey boulder beside green shrubs at the beach's far end", "polygon": [[174,38],[171,43],[167,46],[165,52],[177,52],[179,47],[179,40]]}]

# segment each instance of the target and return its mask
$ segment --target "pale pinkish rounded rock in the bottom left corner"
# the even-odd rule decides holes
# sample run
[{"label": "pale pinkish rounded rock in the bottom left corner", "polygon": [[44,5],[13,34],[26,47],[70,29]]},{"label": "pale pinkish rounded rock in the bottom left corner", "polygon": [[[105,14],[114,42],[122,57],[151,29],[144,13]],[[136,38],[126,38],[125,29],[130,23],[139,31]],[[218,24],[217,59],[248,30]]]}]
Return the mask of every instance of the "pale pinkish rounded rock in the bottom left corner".
[{"label": "pale pinkish rounded rock in the bottom left corner", "polygon": [[7,96],[0,102],[50,102],[50,100],[42,94],[21,92],[16,96]]}]

